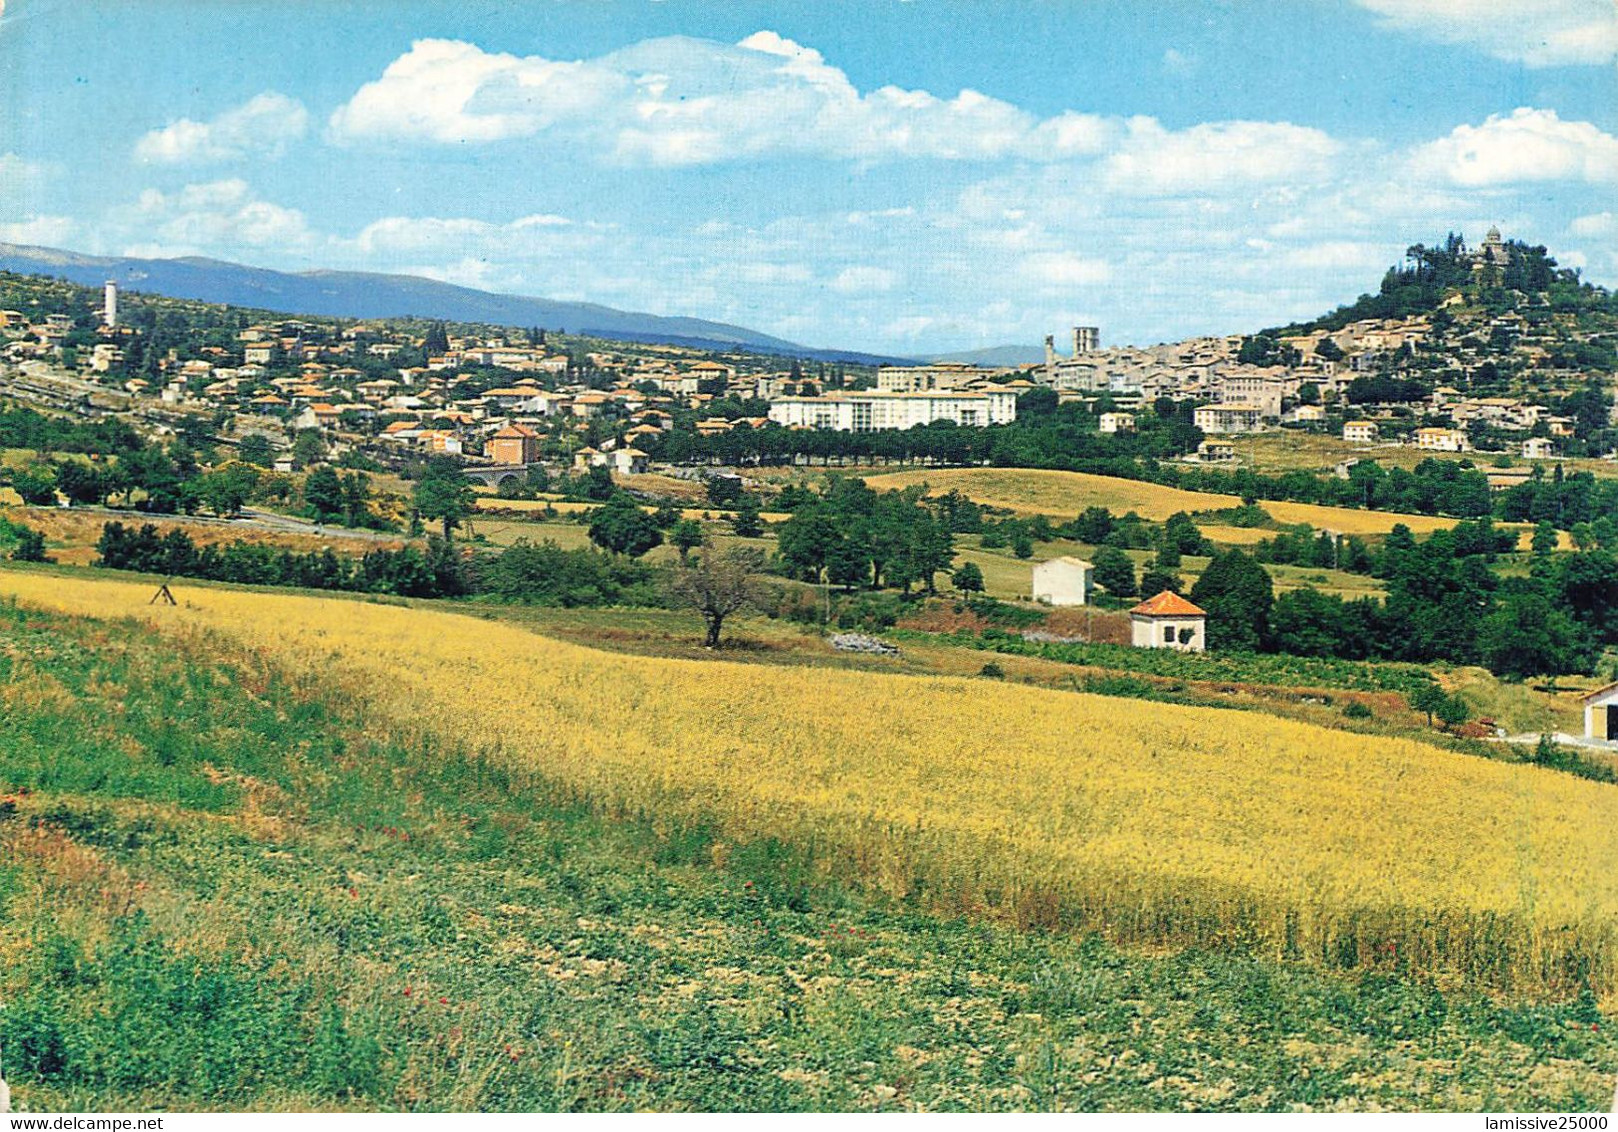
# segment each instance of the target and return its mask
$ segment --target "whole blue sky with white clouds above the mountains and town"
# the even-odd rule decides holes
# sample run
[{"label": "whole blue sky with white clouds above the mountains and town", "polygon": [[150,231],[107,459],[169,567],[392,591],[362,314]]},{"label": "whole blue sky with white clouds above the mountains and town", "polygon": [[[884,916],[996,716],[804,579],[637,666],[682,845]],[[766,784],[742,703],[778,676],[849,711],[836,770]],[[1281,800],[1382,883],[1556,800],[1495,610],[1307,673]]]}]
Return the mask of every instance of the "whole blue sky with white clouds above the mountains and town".
[{"label": "whole blue sky with white clouds above the mountains and town", "polygon": [[0,0],[0,241],[927,353],[1618,281],[1612,0]]}]

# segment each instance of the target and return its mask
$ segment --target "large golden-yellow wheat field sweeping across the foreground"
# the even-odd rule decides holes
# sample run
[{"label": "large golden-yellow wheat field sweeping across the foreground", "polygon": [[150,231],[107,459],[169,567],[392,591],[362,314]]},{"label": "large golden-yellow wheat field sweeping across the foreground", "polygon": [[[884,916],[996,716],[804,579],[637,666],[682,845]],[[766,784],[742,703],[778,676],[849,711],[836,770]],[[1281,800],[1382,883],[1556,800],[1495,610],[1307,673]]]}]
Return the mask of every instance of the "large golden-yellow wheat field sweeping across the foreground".
[{"label": "large golden-yellow wheat field sweeping across the foreground", "polygon": [[0,571],[212,632],[615,810],[809,846],[948,912],[1618,993],[1618,789],[1256,713],[602,653],[453,613]]}]

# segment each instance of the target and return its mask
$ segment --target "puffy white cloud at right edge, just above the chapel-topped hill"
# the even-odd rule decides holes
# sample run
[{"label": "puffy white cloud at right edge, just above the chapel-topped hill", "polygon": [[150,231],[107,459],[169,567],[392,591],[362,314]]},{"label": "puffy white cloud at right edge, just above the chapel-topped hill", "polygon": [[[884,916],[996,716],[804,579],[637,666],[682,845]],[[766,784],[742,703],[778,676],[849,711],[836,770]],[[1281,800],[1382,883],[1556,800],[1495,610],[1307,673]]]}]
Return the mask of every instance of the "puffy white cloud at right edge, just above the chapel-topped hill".
[{"label": "puffy white cloud at right edge, just above the chapel-topped hill", "polygon": [[1456,126],[1411,155],[1413,168],[1461,186],[1524,181],[1618,183],[1618,137],[1555,110],[1521,107],[1480,126]]}]

